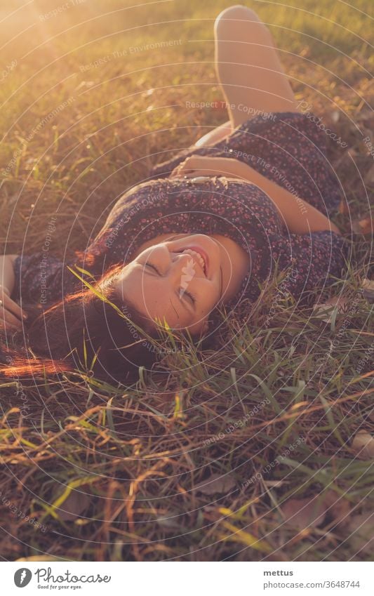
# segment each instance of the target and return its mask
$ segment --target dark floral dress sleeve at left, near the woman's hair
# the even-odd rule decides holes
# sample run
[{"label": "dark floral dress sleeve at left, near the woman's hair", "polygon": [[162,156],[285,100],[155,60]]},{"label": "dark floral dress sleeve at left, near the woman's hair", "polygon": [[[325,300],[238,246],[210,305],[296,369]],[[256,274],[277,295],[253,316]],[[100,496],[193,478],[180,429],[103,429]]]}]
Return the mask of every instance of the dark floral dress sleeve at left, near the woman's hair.
[{"label": "dark floral dress sleeve at left, near the woman's hair", "polygon": [[[14,263],[15,284],[12,292],[13,300],[23,303],[39,303],[51,305],[62,300],[64,285],[64,264],[46,253],[20,255]],[[65,277],[67,273],[65,272]],[[65,284],[64,284],[65,281]]]}]

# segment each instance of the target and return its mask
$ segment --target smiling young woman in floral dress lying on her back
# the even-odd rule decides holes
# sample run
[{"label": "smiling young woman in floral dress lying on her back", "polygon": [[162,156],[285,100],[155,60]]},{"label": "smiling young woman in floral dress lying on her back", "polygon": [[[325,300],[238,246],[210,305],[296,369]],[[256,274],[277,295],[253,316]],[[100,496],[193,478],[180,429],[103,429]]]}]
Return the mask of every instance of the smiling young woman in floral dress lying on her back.
[{"label": "smiling young woman in floral dress lying on her back", "polygon": [[253,11],[227,8],[214,32],[229,121],[126,192],[76,263],[2,258],[4,376],[87,366],[126,380],[156,359],[149,338],[160,326],[209,338],[221,306],[230,317],[243,299],[255,303],[279,272],[301,304],[341,276],[325,133],[298,110]]}]

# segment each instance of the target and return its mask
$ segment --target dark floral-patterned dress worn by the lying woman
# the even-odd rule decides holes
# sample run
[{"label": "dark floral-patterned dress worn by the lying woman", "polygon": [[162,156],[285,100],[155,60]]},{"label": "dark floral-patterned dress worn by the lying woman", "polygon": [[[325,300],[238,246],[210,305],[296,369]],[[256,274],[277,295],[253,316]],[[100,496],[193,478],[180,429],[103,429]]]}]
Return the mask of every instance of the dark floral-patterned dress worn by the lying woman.
[{"label": "dark floral-patterned dress worn by the lying woman", "polygon": [[[291,234],[267,194],[251,183],[223,176],[167,178],[191,154],[240,159],[326,216],[334,213],[342,196],[326,157],[326,135],[311,119],[293,112],[258,116],[212,147],[189,147],[156,166],[147,182],[116,201],[86,254],[103,256],[105,270],[128,263],[140,244],[159,234],[230,237],[251,261],[241,289],[228,305],[232,309],[243,298],[255,302],[279,272],[285,274],[282,292],[300,303],[315,301],[344,274],[345,239],[328,230]],[[15,260],[14,298],[22,295],[24,302],[41,302],[41,260],[41,253]],[[75,279],[67,265],[71,263],[48,257],[43,277],[46,305],[72,291]]]}]

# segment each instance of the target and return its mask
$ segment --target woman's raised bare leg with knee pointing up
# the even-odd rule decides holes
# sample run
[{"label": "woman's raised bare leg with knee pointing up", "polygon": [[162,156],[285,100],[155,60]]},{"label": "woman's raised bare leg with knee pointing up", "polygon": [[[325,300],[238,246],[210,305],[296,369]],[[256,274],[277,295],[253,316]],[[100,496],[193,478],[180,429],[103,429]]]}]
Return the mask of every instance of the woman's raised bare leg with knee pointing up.
[{"label": "woman's raised bare leg with knee pointing up", "polygon": [[[215,65],[232,126],[262,112],[298,112],[269,29],[245,6],[215,20]],[[214,132],[214,131],[212,131]]]}]

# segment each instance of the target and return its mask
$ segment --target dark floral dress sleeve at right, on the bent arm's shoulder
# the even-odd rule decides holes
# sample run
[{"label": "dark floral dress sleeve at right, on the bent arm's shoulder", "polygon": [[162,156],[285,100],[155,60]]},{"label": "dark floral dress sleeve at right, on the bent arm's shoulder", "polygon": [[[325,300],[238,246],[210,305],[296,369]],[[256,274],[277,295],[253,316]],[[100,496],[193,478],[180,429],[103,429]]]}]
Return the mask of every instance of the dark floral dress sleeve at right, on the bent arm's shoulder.
[{"label": "dark floral dress sleeve at right, on the bent arm's shoulder", "polygon": [[296,301],[314,304],[323,289],[341,279],[349,258],[347,241],[330,230],[289,234],[272,241],[279,271],[286,270],[278,288]]}]

